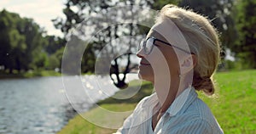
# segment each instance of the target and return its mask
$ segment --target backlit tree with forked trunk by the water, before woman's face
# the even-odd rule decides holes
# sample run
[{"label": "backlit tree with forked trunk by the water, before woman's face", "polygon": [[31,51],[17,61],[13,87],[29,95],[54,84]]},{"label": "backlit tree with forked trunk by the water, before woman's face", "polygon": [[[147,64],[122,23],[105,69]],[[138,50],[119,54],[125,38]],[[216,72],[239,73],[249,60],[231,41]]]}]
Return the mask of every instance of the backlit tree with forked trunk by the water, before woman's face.
[{"label": "backlit tree with forked trunk by the water, before woman's face", "polygon": [[[171,2],[171,1],[170,1]],[[177,2],[177,1],[175,1]],[[88,49],[85,50],[88,55],[84,55],[85,60],[82,61],[82,64],[87,66],[82,66],[82,70],[84,71],[94,71],[93,66],[91,65],[97,64],[96,73],[102,74],[108,71],[111,79],[113,80],[113,75],[117,81],[113,81],[114,85],[119,88],[127,87],[125,83],[125,76],[132,69],[137,67],[137,64],[133,63],[132,60],[132,52],[136,52],[137,44],[139,39],[142,36],[145,36],[150,27],[145,28],[145,26],[137,25],[138,12],[141,11],[142,8],[151,8],[158,7],[163,3],[154,4],[154,1],[150,0],[141,0],[141,1],[100,1],[100,0],[90,0],[90,1],[82,1],[82,0],[68,0],[66,8],[63,9],[63,13],[66,15],[66,20],[57,18],[53,20],[55,27],[61,29],[62,32],[65,33],[66,37],[69,31],[74,27],[77,27],[79,23],[79,35],[90,35],[93,36],[95,34],[94,31],[102,28],[102,31],[97,32],[96,36],[93,36],[91,40],[91,44],[88,45]],[[137,8],[133,5],[139,5],[142,8]],[[117,8],[119,6],[119,8]],[[111,8],[111,9],[109,9]],[[98,15],[98,16],[96,16]],[[150,15],[150,14],[149,14]],[[96,20],[86,20],[90,18],[90,16],[96,16]],[[144,14],[144,16],[147,16]],[[128,24],[117,24],[118,21],[122,20],[126,17],[126,19],[130,22]],[[151,19],[154,19],[150,16]],[[113,22],[113,25],[104,25],[101,23],[102,20],[109,20]],[[114,24],[116,22],[116,24]],[[85,25],[85,28],[83,28]],[[85,31],[83,31],[85,30]],[[140,36],[138,38],[128,37],[122,41],[118,39],[122,36]],[[129,44],[128,47],[120,47],[118,44]],[[106,47],[106,45],[108,45]],[[126,51],[126,53],[122,53],[119,55],[117,50]],[[90,53],[89,53],[90,52]],[[99,57],[99,55],[102,55]],[[97,61],[96,62],[96,57]],[[122,59],[122,60],[120,60]],[[125,64],[121,64],[124,63]],[[99,64],[100,63],[100,64]],[[111,64],[109,64],[111,63]],[[109,65],[108,65],[109,64]],[[88,67],[90,66],[90,67]],[[120,77],[119,74],[123,74],[123,77]]]}]

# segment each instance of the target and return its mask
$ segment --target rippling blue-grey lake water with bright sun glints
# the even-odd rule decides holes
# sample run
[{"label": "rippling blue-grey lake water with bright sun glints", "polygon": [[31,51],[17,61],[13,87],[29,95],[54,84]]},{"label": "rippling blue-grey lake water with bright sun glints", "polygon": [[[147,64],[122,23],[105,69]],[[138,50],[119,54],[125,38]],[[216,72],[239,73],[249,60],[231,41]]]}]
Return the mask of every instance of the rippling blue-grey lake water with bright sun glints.
[{"label": "rippling blue-grey lake water with bright sun glints", "polygon": [[0,80],[0,134],[55,133],[73,117],[73,107],[86,111],[118,90],[106,77],[65,76],[63,81],[61,77]]}]

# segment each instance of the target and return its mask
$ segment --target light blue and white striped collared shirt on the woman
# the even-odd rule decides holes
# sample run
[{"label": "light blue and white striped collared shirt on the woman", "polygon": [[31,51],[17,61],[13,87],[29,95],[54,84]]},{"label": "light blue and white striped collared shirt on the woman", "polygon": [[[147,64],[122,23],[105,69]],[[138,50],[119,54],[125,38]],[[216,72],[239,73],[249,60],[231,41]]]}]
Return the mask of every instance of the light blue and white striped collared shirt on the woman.
[{"label": "light blue and white striped collared shirt on the woman", "polygon": [[197,97],[194,87],[184,90],[152,130],[156,93],[143,98],[116,134],[221,134],[224,133],[207,104]]}]

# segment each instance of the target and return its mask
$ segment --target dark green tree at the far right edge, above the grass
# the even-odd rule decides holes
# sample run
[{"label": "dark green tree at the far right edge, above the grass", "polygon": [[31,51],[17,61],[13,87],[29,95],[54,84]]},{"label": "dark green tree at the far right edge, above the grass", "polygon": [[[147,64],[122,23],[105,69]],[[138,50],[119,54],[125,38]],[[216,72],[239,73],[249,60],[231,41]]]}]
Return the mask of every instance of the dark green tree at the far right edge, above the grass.
[{"label": "dark green tree at the far right edge, above the grass", "polygon": [[246,68],[256,69],[256,1],[238,0],[233,15],[239,36],[231,49]]}]

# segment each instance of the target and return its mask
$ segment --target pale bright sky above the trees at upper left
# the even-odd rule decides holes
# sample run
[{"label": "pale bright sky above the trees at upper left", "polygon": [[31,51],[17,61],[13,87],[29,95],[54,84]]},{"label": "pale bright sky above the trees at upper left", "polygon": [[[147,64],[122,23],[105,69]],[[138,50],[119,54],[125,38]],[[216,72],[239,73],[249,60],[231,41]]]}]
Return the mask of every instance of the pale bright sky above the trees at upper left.
[{"label": "pale bright sky above the trees at upper left", "polygon": [[20,17],[31,18],[40,27],[44,27],[48,35],[63,36],[51,21],[57,17],[65,18],[62,13],[63,3],[64,0],[0,0],[0,11],[5,8],[20,14]]}]

